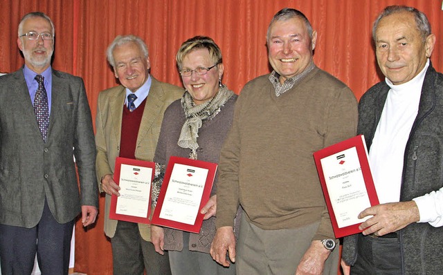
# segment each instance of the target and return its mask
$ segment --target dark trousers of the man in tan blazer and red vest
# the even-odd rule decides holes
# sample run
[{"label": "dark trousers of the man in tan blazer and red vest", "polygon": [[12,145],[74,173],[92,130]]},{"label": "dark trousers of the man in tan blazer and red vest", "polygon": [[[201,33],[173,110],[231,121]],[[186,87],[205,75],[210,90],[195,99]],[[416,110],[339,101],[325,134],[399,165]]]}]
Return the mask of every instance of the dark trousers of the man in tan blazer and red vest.
[{"label": "dark trousers of the man in tan blazer and red vest", "polygon": [[168,252],[158,254],[134,222],[119,220],[111,245],[114,275],[143,275],[145,269],[147,275],[171,274]]}]

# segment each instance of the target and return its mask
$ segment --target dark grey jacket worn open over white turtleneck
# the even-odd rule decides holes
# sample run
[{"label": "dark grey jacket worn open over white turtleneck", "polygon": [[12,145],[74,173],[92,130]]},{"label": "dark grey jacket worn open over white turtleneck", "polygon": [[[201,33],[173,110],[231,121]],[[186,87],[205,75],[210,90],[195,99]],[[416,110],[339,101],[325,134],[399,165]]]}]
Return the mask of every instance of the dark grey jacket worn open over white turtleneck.
[{"label": "dark grey jacket worn open over white turtleneck", "polygon": [[[379,124],[388,91],[379,82],[360,99],[359,126],[368,149]],[[443,74],[429,64],[424,77],[419,109],[404,152],[400,201],[405,202],[443,187]],[[441,274],[443,269],[443,228],[428,222],[413,222],[397,231],[402,274]],[[358,235],[343,240],[343,260],[354,265]]]}]

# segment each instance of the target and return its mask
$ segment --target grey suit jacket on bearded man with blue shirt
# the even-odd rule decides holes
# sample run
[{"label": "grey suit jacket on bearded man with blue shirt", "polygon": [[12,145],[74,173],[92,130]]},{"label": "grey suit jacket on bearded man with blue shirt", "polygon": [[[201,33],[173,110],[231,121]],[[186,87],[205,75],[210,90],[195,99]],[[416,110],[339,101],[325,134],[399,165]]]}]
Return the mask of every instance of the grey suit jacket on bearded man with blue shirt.
[{"label": "grey suit jacket on bearded man with blue shirt", "polygon": [[[45,198],[57,222],[98,207],[96,147],[83,80],[53,70],[48,138],[42,140],[23,68],[0,77],[0,223],[34,227]],[[78,167],[78,178],[75,162]]]}]

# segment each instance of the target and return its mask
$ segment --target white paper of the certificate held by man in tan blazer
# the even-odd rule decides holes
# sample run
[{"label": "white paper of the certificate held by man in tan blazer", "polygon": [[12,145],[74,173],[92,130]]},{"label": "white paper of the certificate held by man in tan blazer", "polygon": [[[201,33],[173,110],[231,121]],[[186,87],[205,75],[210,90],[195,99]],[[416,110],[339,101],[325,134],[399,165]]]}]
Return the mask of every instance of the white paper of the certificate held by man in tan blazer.
[{"label": "white paper of the certificate held by man in tan blazer", "polygon": [[152,168],[121,164],[116,214],[147,218]]}]

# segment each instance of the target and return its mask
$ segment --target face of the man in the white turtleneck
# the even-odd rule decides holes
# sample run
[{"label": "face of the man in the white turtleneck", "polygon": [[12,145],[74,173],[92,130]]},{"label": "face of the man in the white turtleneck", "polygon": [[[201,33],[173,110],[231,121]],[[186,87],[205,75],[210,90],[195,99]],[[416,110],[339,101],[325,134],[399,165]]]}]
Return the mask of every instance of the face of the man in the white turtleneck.
[{"label": "face of the man in the white turtleneck", "polygon": [[424,68],[431,56],[435,35],[426,41],[417,29],[415,17],[410,12],[397,12],[379,21],[375,31],[377,62],[383,75],[392,84],[404,84]]}]

